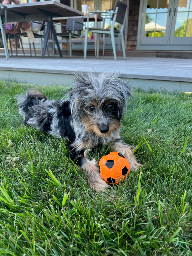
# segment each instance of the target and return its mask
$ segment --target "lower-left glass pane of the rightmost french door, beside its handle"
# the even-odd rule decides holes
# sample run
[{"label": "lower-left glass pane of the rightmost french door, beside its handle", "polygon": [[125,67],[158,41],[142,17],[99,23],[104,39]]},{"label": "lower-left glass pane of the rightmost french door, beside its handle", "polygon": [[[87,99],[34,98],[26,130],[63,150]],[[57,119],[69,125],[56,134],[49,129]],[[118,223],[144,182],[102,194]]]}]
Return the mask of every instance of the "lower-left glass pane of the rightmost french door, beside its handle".
[{"label": "lower-left glass pane of the rightmost french door, beside its handle", "polygon": [[177,13],[175,24],[175,37],[184,37],[188,13]]}]

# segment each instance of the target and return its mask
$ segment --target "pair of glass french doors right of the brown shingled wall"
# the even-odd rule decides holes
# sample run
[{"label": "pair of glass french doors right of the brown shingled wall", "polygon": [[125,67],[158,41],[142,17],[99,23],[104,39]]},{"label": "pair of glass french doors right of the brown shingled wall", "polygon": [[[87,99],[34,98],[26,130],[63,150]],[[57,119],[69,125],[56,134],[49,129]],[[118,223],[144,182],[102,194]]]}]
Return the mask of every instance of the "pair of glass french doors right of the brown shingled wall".
[{"label": "pair of glass french doors right of the brown shingled wall", "polygon": [[143,0],[140,44],[191,45],[192,0]]}]

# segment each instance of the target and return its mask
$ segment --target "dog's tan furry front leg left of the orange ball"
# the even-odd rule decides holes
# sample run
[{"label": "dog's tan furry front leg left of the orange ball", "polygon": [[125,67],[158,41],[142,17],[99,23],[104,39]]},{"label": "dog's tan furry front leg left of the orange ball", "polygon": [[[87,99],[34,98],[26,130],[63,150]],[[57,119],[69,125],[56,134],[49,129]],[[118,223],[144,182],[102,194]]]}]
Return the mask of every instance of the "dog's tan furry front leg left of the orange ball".
[{"label": "dog's tan furry front leg left of the orange ball", "polygon": [[83,170],[86,173],[86,177],[89,181],[90,188],[97,191],[103,191],[109,188],[109,185],[104,181],[98,172],[97,162],[95,159],[89,160],[87,157],[87,151],[84,153],[84,163],[82,165]]}]

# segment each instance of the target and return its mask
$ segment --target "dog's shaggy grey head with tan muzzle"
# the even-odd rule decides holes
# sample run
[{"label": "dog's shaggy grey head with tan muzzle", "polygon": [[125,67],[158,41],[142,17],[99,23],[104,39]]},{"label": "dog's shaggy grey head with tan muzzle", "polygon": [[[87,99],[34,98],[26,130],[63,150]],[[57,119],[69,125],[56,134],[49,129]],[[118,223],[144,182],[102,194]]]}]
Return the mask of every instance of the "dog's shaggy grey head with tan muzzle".
[{"label": "dog's shaggy grey head with tan muzzle", "polygon": [[69,92],[70,107],[72,117],[87,132],[106,138],[120,128],[130,87],[119,77],[119,73],[76,75]]}]

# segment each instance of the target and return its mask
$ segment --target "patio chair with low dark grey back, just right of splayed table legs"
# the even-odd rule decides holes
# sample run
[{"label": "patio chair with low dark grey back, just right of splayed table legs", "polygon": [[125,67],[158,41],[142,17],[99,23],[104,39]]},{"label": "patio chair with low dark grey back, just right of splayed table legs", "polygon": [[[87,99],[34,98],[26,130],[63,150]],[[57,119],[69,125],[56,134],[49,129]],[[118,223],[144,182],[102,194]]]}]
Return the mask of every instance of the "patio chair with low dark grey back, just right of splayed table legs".
[{"label": "patio chair with low dark grey back, just right of splayed table legs", "polygon": [[[81,18],[76,18],[76,19],[68,18],[66,25],[54,23],[54,24],[66,27],[65,30],[67,32],[65,32],[65,33],[56,33],[56,35],[59,36],[59,37],[64,37],[64,38],[67,39],[67,48],[68,48],[68,52],[69,52],[69,57],[72,56],[72,40],[71,40],[72,38],[81,38],[82,39],[83,50],[84,50],[83,21],[84,21],[84,17],[81,17]],[[81,34],[75,33],[76,31],[81,32]],[[69,40],[69,42],[68,42],[68,40]],[[53,39],[53,51],[55,51],[54,39]]]}]

